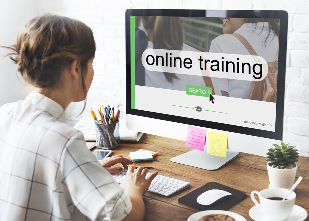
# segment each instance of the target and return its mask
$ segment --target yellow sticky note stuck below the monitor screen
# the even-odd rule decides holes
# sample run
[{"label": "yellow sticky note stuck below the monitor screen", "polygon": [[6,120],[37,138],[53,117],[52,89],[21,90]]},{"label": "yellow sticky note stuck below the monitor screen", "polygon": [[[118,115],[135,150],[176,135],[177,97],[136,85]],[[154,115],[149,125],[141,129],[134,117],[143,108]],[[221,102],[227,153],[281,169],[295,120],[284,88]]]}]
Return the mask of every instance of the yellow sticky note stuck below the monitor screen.
[{"label": "yellow sticky note stuck below the monitor screen", "polygon": [[207,154],[226,157],[227,134],[208,132]]}]

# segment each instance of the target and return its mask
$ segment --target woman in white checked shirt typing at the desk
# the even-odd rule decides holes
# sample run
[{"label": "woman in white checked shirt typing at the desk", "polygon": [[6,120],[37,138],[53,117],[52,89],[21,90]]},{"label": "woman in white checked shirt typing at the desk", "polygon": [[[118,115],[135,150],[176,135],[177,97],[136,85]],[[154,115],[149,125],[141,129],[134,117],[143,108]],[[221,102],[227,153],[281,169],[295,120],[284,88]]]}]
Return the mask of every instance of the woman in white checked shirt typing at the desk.
[{"label": "woman in white checked shirt typing at the desk", "polygon": [[6,48],[35,90],[0,108],[0,220],[142,220],[142,195],[158,173],[146,179],[147,169],[130,166],[119,186],[109,172],[132,162],[98,162],[83,134],[64,124],[65,109],[85,100],[92,82],[91,29],[43,15]]}]

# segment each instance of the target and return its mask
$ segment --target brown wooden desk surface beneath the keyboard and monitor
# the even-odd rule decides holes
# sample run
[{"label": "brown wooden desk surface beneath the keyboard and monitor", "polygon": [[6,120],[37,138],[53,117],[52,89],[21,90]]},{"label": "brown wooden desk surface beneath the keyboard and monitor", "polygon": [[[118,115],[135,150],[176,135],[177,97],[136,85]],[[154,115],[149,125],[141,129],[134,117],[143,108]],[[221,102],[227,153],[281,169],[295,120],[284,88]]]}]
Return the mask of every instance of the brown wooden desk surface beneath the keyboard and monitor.
[{"label": "brown wooden desk surface beneath the keyboard and monitor", "polygon": [[[185,147],[185,141],[174,140],[144,134],[139,142],[123,142],[120,147],[112,150],[112,155],[121,154],[127,157],[130,152],[138,149],[147,149],[158,152],[152,162],[134,163],[134,165],[154,166],[150,172],[158,171],[160,175],[184,180],[191,183],[191,187],[172,195],[163,197],[147,192],[144,196],[146,214],[144,220],[187,220],[197,210],[178,203],[178,198],[203,186],[208,182],[218,182],[234,189],[243,191],[247,198],[228,209],[252,220],[248,211],[255,204],[250,198],[253,190],[268,188],[269,179],[266,167],[266,158],[248,153],[240,153],[232,162],[219,170],[203,170],[192,166],[171,162],[170,159],[192,149]],[[118,166],[118,165],[117,165]],[[121,166],[121,165],[119,165]],[[309,158],[299,157],[296,177],[303,177],[303,181],[296,187],[295,204],[306,209],[309,214]],[[296,179],[295,179],[296,181]],[[306,220],[309,220],[307,218]]]}]

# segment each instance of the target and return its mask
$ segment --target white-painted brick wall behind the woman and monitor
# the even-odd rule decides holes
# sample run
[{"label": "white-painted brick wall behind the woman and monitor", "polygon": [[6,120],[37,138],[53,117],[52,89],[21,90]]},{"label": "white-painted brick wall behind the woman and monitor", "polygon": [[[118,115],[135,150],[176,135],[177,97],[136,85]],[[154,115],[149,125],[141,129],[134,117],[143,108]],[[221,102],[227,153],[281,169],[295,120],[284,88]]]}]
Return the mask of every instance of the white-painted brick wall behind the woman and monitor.
[{"label": "white-painted brick wall behind the woman and monitor", "polygon": [[[51,12],[77,18],[91,27],[97,44],[95,77],[86,109],[121,105],[125,116],[125,9],[252,9],[289,13],[283,141],[309,156],[309,3],[308,0],[37,0],[39,14]],[[69,106],[71,125],[83,102]]]}]

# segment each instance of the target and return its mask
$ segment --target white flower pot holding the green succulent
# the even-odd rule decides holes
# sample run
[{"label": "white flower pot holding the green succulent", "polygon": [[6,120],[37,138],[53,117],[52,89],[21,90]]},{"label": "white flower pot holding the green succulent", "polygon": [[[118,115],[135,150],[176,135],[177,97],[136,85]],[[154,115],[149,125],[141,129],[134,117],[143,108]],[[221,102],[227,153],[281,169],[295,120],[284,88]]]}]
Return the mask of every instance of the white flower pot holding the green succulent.
[{"label": "white flower pot holding the green succulent", "polygon": [[296,176],[297,164],[291,169],[277,169],[268,165],[267,171],[271,188],[290,189]]}]

